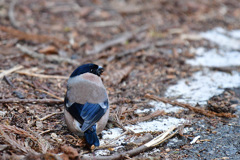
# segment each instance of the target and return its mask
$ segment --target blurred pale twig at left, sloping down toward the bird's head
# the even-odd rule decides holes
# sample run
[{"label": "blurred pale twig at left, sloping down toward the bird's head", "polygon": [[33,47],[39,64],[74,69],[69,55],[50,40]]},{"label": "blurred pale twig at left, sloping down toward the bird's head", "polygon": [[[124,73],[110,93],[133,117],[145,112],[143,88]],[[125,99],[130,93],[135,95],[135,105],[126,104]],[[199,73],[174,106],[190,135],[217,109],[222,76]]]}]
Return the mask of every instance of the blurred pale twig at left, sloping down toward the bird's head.
[{"label": "blurred pale twig at left, sloping down toward the bird's head", "polygon": [[50,62],[58,62],[58,63],[66,62],[66,63],[72,64],[72,65],[79,65],[79,62],[77,62],[75,60],[72,60],[72,59],[69,59],[69,58],[63,58],[63,57],[59,57],[59,56],[56,56],[56,55],[38,54],[37,52],[32,51],[29,48],[27,48],[25,46],[22,46],[20,44],[17,44],[16,47],[18,49],[20,49],[21,52],[29,55],[30,57],[37,58],[37,59],[40,59],[40,60],[47,60],[47,61],[50,61]]}]

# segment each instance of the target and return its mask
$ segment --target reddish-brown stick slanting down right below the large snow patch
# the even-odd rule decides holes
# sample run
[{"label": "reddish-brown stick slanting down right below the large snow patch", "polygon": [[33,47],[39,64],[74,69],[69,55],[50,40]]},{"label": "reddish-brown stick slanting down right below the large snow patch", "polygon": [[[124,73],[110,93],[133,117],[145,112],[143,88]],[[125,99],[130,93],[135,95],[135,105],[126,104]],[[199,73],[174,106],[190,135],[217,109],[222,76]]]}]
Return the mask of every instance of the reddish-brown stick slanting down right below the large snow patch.
[{"label": "reddish-brown stick slanting down right below the large snow patch", "polygon": [[162,98],[162,97],[158,97],[158,96],[154,96],[154,95],[150,95],[150,94],[146,94],[145,97],[149,98],[149,99],[152,99],[152,100],[155,100],[155,101],[161,101],[163,103],[168,103],[168,104],[171,104],[173,106],[179,106],[179,107],[187,108],[187,109],[189,109],[189,110],[191,110],[195,113],[200,113],[200,114],[203,114],[207,117],[214,117],[214,116],[227,117],[227,118],[236,117],[236,115],[233,115],[231,113],[216,113],[216,112],[208,111],[208,110],[205,110],[205,109],[202,109],[202,108],[192,107],[189,104],[184,104],[184,103],[177,102],[177,101],[171,101],[171,100],[168,100],[166,98]]}]

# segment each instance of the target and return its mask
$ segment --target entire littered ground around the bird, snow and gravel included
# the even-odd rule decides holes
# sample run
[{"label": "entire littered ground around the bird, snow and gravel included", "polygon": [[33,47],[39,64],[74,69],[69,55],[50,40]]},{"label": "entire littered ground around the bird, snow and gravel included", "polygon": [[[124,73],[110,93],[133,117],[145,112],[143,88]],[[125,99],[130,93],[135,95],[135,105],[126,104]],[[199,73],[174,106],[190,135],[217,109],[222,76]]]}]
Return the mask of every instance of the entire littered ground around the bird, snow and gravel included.
[{"label": "entire littered ground around the bird, snow and gravel included", "polygon": [[[0,2],[0,159],[240,159],[237,0],[16,3]],[[62,114],[87,62],[111,104],[93,153]]]}]

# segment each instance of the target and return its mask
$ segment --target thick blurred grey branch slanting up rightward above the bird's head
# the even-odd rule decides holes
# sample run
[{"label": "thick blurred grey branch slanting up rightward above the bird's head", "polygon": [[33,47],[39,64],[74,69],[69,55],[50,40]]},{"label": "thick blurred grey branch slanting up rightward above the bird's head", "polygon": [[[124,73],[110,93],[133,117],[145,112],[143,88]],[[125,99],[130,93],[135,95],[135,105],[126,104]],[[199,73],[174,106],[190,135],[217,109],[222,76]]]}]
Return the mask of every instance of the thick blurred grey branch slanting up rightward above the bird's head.
[{"label": "thick blurred grey branch slanting up rightward above the bird's head", "polygon": [[112,46],[115,46],[117,44],[125,43],[127,40],[132,39],[137,33],[143,32],[147,28],[148,28],[148,26],[142,26],[137,31],[125,32],[121,36],[119,36],[115,39],[111,39],[111,40],[106,41],[103,44],[94,46],[93,50],[87,51],[87,54],[97,54],[97,53],[99,53],[103,50],[106,50]]}]

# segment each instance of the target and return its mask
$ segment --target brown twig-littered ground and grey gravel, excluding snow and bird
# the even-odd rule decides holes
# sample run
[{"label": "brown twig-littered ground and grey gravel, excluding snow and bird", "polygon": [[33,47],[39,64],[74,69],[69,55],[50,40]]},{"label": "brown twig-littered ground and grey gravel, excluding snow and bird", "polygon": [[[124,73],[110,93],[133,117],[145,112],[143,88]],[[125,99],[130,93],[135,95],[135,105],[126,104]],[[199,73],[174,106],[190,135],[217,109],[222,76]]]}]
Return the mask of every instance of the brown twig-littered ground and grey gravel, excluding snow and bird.
[{"label": "brown twig-littered ground and grey gravel, excluding snow and bird", "polygon": [[[77,66],[91,62],[105,68],[102,78],[111,104],[107,128],[134,124],[148,116],[135,110],[152,107],[147,94],[162,97],[169,85],[201,69],[185,63],[194,58],[190,49],[215,46],[195,33],[214,27],[239,29],[239,17],[238,0],[0,0],[0,159],[30,153],[26,159],[60,155],[67,160],[90,152],[83,138],[68,131],[63,117],[66,81]],[[230,107],[239,105],[239,89],[225,92],[230,98],[219,95],[205,109],[226,113],[221,117],[196,110],[161,113],[191,117],[187,125],[196,132],[177,134],[173,138],[178,142],[164,142],[151,158],[240,159],[240,122],[230,118],[239,116]],[[219,111],[221,103],[225,105]],[[223,128],[215,139],[214,130]],[[198,133],[206,141],[189,145]],[[225,148],[216,142],[208,145],[208,139]],[[219,156],[206,156],[215,153]],[[148,157],[141,153],[134,158]]]}]

